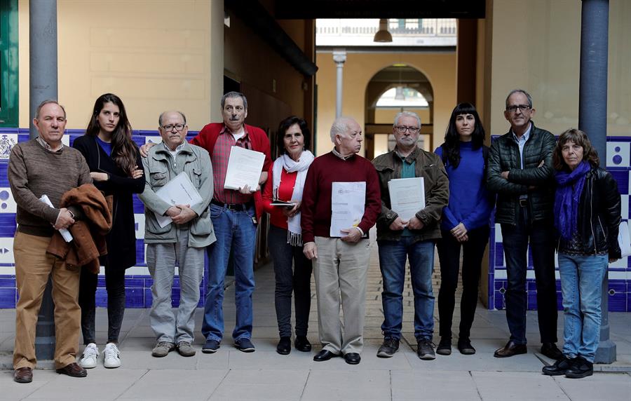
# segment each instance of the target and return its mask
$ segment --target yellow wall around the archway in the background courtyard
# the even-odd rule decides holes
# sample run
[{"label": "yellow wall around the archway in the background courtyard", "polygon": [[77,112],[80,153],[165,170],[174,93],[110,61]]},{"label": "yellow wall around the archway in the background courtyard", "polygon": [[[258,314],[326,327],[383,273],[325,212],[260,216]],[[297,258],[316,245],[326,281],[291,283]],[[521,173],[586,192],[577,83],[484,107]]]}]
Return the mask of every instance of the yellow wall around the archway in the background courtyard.
[{"label": "yellow wall around the archway in the background courtyard", "polygon": [[[316,62],[319,69],[315,152],[319,156],[332,149],[329,131],[335,119],[336,64],[330,52],[318,52]],[[456,102],[456,53],[348,53],[344,63],[342,114],[355,118],[363,126],[368,82],[393,63],[409,64],[427,76],[434,94],[433,142],[442,143]]]}]

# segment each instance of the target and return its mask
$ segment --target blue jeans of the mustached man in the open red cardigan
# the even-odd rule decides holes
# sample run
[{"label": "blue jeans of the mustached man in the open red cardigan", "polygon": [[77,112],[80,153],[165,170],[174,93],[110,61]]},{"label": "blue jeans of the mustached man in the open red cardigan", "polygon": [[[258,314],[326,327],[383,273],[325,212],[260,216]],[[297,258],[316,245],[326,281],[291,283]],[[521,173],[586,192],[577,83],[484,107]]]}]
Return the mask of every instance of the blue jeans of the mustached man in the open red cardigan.
[{"label": "blue jeans of the mustached man in the open red cardigan", "polygon": [[224,278],[228,269],[230,248],[233,247],[234,301],[236,324],[235,340],[252,338],[252,292],[254,281],[254,252],[257,225],[254,207],[245,211],[229,210],[210,204],[210,219],[217,241],[208,246],[208,287],[204,305],[202,334],[206,340],[222,341],[224,335]]}]

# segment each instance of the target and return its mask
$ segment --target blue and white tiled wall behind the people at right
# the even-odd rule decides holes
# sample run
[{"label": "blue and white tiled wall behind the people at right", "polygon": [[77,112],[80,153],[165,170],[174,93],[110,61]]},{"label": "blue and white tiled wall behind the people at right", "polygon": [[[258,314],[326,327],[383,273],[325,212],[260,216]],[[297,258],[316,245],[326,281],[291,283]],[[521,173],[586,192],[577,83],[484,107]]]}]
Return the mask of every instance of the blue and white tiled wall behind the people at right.
[{"label": "blue and white tiled wall behind the people at right", "polygon": [[[608,137],[607,159],[601,160],[613,178],[618,182],[622,201],[622,219],[629,219],[629,183],[631,177],[631,137]],[[531,250],[528,250],[527,294],[528,309],[536,310],[536,285],[531,261]],[[559,268],[555,256],[555,275],[557,277],[557,308],[561,306],[561,285]],[[499,224],[491,225],[489,240],[489,309],[505,308],[504,292],[506,290],[506,261],[504,259],[502,233]],[[622,259],[609,264],[609,311],[631,311],[631,258]]]}]

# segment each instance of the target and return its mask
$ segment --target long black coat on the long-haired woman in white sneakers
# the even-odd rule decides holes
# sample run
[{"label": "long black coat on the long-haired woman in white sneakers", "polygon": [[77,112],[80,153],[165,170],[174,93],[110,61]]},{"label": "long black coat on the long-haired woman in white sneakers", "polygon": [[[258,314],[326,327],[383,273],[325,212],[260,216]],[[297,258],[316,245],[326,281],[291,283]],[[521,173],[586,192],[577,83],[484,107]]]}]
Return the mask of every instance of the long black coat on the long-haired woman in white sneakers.
[{"label": "long black coat on the long-haired woman in white sneakers", "polygon": [[[144,176],[128,177],[90,135],[76,138],[72,147],[83,154],[90,172],[107,172],[109,180],[94,182],[105,196],[112,195],[112,225],[107,234],[107,256],[104,261],[110,269],[128,269],[136,264],[136,231],[132,193],[144,191]],[[140,151],[137,151],[136,165],[142,168]]]}]

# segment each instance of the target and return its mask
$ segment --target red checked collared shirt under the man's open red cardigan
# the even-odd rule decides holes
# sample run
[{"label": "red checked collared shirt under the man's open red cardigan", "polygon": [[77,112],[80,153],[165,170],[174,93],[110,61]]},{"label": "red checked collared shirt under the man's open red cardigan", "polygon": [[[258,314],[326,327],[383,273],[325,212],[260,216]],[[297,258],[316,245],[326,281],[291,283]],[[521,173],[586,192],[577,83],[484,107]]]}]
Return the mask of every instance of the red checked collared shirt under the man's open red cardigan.
[{"label": "red checked collared shirt under the man's open red cardigan", "polygon": [[[226,172],[228,172],[228,159],[230,158],[230,151],[232,147],[242,147],[243,149],[252,150],[252,141],[250,141],[250,135],[248,135],[245,125],[243,125],[245,135],[235,140],[230,130],[224,126],[222,131],[219,132],[215,147],[212,149],[212,175],[215,180],[215,195],[213,198],[221,203],[248,203],[252,200],[252,195],[245,195],[239,191],[232,189],[224,189],[224,182],[226,182]],[[255,188],[251,188],[254,190]]]}]

